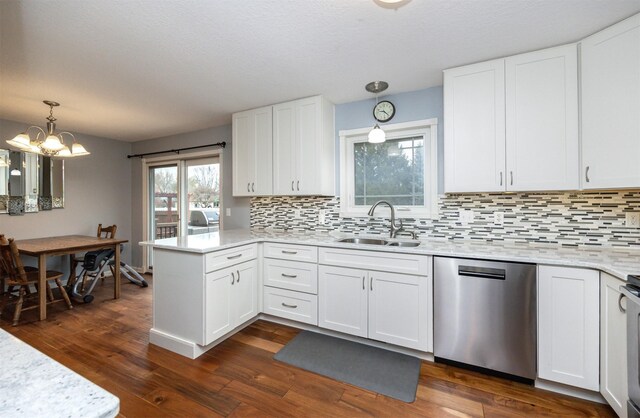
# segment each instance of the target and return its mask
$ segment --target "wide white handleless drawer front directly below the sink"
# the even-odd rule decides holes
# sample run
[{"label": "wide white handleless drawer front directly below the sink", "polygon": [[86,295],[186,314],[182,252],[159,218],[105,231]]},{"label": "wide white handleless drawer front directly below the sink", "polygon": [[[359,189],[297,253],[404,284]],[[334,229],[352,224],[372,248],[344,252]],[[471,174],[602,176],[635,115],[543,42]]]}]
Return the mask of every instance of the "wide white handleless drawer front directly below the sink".
[{"label": "wide white handleless drawer front directly below the sink", "polygon": [[432,270],[428,255],[320,248],[318,259],[320,264],[429,277]]}]

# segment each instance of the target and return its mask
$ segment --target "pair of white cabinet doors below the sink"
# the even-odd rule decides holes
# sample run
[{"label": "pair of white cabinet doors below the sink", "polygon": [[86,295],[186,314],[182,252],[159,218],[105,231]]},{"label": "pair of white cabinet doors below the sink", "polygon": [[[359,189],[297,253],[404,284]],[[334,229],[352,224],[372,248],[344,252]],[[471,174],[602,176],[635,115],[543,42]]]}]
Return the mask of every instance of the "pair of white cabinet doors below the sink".
[{"label": "pair of white cabinet doors below the sink", "polygon": [[433,351],[430,290],[430,276],[319,266],[318,326]]}]

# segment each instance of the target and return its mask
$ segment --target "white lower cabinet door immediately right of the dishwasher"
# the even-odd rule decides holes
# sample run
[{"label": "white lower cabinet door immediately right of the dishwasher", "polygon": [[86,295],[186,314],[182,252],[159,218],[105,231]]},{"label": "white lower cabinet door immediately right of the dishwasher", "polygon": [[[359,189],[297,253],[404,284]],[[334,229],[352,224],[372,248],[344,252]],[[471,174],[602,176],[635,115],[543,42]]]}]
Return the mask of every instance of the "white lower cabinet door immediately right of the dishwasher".
[{"label": "white lower cabinet door immediately right of the dishwasher", "polygon": [[600,275],[538,267],[538,376],[598,391]]}]

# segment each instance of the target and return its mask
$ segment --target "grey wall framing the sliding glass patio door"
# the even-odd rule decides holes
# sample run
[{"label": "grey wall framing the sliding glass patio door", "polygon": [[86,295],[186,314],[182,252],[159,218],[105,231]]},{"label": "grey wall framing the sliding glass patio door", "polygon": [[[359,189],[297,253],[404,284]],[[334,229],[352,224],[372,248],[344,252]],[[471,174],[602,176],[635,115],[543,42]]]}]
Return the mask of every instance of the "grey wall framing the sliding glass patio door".
[{"label": "grey wall framing the sliding glass patio door", "polygon": [[[237,229],[249,228],[249,198],[234,198],[232,195],[231,179],[231,125],[219,126],[216,128],[203,129],[201,131],[189,132],[185,134],[172,135],[163,138],[149,139],[146,141],[134,142],[131,154],[142,154],[146,152],[164,151],[176,148],[195,147],[198,145],[214,144],[216,142],[226,142],[227,146],[222,150],[222,213],[223,228]],[[201,152],[213,150],[214,148],[202,148],[193,150]],[[171,155],[171,154],[166,154]],[[188,156],[188,152],[181,152],[180,156]],[[144,241],[142,235],[142,161],[139,158],[131,159],[131,219],[133,225],[131,230],[132,242]],[[231,209],[231,216],[224,214],[225,209]],[[142,266],[142,250],[139,246],[134,246],[132,252],[132,263],[135,266]]]}]

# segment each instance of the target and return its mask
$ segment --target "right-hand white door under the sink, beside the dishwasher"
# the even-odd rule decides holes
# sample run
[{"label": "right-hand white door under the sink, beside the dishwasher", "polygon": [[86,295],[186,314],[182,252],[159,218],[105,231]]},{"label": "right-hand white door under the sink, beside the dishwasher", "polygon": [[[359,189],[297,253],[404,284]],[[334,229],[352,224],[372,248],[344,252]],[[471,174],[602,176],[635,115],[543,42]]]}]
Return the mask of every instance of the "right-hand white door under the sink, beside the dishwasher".
[{"label": "right-hand white door under the sink, beside the dishwasher", "polygon": [[429,278],[370,271],[369,281],[369,338],[429,351]]}]

